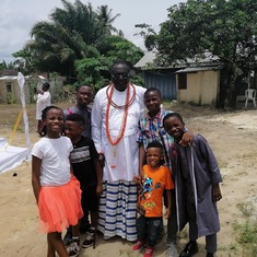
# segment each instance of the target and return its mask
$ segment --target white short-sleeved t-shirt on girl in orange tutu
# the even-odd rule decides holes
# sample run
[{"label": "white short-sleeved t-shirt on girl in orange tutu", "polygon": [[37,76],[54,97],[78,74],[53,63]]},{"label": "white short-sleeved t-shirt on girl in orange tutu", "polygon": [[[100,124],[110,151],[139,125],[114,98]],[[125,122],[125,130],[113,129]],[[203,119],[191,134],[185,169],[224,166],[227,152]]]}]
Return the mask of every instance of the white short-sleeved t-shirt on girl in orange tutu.
[{"label": "white short-sleeved t-shirt on girl in orange tutu", "polygon": [[40,185],[60,186],[70,180],[70,152],[73,145],[69,138],[42,138],[33,149],[32,155],[42,159]]}]

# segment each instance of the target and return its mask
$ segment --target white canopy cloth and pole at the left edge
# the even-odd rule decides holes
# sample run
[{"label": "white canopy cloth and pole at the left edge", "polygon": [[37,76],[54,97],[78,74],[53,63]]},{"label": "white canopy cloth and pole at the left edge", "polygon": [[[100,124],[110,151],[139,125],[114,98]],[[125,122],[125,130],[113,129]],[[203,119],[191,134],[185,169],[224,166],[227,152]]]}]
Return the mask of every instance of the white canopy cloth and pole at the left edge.
[{"label": "white canopy cloth and pole at the left edge", "polygon": [[[25,94],[24,94],[24,84],[25,79],[24,75],[19,72],[17,74],[17,83],[21,89],[21,102],[22,102],[22,114],[23,114],[23,121],[25,128],[25,140],[26,140],[26,148],[19,148],[10,145],[11,140],[7,140],[4,138],[0,138],[0,173],[10,171],[19,165],[21,165],[25,160],[31,160],[31,139],[28,132],[28,120],[26,114],[26,104],[25,104]],[[14,126],[13,133],[17,128],[20,120]]]}]

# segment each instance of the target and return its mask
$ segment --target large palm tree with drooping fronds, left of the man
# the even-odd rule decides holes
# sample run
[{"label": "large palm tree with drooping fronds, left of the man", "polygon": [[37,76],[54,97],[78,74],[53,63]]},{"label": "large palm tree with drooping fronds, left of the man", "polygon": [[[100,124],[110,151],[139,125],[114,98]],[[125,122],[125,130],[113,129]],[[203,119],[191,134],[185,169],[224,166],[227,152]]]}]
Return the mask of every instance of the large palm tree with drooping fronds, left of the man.
[{"label": "large palm tree with drooping fronds, left of the man", "polygon": [[[32,27],[33,39],[23,50],[31,52],[36,70],[56,71],[75,79],[74,62],[100,55],[97,45],[109,35],[106,27],[116,16],[112,19],[112,13],[107,12],[108,20],[104,23],[91,3],[83,4],[79,0],[73,4],[67,0],[61,2],[63,9],[56,8],[49,15],[49,22],[42,21]],[[14,55],[23,58],[20,54]]]}]

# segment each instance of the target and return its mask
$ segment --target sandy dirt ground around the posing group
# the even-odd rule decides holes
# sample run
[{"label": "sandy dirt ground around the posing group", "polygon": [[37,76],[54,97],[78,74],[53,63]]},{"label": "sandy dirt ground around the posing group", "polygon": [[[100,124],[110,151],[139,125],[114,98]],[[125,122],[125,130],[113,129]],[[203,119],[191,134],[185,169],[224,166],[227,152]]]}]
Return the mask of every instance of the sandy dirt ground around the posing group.
[{"label": "sandy dirt ground around the posing group", "polygon": [[[58,104],[67,107],[71,104]],[[220,164],[223,183],[223,198],[218,203],[221,231],[218,234],[219,250],[217,256],[243,256],[237,248],[230,252],[236,242],[233,222],[243,219],[236,207],[252,201],[257,205],[257,110],[241,109],[233,113],[214,110],[207,107],[186,104],[166,104],[166,108],[183,115],[186,126],[195,133],[201,133],[211,145]],[[19,105],[0,105],[0,137],[9,138],[21,107]],[[31,140],[38,140],[36,135],[35,105],[27,106]],[[11,143],[25,147],[24,128],[21,124]],[[1,154],[1,153],[0,153]],[[16,176],[13,176],[13,174]],[[37,209],[31,186],[31,163],[0,174],[0,256],[5,257],[43,257],[46,256],[46,236],[39,234]],[[186,238],[182,234],[178,246],[182,249]],[[206,256],[205,238],[199,238],[200,252],[196,257]],[[132,244],[121,238],[104,241],[98,236],[96,248],[82,249],[80,256],[142,256],[133,253]],[[165,237],[156,246],[155,256],[165,256]]]}]

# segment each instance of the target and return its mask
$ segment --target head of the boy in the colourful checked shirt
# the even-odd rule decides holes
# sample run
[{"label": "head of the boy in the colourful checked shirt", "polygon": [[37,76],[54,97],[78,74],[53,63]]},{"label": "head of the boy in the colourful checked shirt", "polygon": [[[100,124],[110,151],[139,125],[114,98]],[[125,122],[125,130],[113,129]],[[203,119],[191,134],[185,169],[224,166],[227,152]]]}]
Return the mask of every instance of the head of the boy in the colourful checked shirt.
[{"label": "head of the boy in the colourful checked shirt", "polygon": [[162,94],[159,89],[150,87],[144,92],[144,105],[150,114],[156,115],[162,104]]}]

